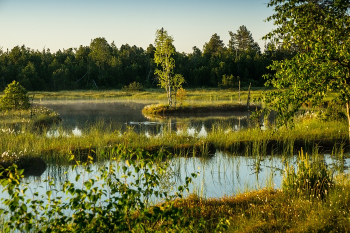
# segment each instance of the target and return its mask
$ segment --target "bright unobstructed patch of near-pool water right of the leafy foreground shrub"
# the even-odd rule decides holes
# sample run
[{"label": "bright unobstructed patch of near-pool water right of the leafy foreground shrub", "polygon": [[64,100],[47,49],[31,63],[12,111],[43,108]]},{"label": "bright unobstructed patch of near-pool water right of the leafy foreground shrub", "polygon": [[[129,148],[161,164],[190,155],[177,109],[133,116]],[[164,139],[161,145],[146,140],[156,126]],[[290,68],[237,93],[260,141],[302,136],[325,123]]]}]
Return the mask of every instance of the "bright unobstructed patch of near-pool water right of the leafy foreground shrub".
[{"label": "bright unobstructed patch of near-pool water right of the leafy foreground shrub", "polygon": [[[193,172],[199,172],[193,179],[191,190],[205,197],[231,195],[237,192],[252,190],[267,185],[280,187],[282,168],[280,157],[256,158],[228,156],[216,153],[213,158],[175,158],[175,179],[184,180]],[[259,165],[260,172],[256,173]]]}]

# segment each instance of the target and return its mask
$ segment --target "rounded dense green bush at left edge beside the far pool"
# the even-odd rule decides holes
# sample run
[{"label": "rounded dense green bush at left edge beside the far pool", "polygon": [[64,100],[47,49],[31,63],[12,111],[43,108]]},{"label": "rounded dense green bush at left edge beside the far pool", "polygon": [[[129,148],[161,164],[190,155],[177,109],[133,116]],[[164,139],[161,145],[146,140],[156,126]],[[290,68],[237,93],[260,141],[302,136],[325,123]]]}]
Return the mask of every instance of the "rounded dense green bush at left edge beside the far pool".
[{"label": "rounded dense green bush at left edge beside the far pool", "polygon": [[4,95],[0,98],[0,106],[5,110],[28,109],[30,107],[28,91],[17,81],[12,81],[3,90]]}]

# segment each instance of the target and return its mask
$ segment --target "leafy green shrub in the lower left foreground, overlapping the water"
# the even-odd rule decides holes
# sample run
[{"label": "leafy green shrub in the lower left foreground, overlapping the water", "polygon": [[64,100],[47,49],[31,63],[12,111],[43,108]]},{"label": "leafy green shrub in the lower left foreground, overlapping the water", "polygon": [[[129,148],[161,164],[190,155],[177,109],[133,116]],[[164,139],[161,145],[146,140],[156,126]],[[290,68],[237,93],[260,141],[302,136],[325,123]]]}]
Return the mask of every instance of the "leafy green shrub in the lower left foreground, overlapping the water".
[{"label": "leafy green shrub in the lower left foreground, overlapping the water", "polygon": [[[110,152],[117,154],[113,159],[121,165],[115,167],[111,163],[93,171],[91,164],[83,164],[85,175],[77,174],[76,182],[66,180],[60,189],[56,189],[54,181],[47,179],[49,190],[45,194],[34,192],[31,198],[27,195],[26,184],[21,184],[22,170],[17,170],[16,165],[2,168],[1,174],[6,177],[0,181],[3,192],[7,192],[7,197],[1,199],[2,230],[193,231],[193,224],[189,224],[191,218],[184,217],[183,210],[174,204],[175,199],[182,198],[183,191],[188,191],[191,177],[186,177],[185,184],[179,186],[177,192],[169,194],[161,191],[159,186],[159,174],[167,167],[166,162],[157,159],[162,158],[163,153],[150,155],[140,149],[127,150],[122,145]],[[67,199],[59,193],[65,193]]]}]

